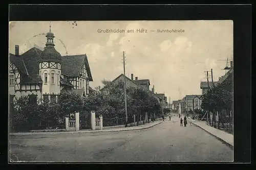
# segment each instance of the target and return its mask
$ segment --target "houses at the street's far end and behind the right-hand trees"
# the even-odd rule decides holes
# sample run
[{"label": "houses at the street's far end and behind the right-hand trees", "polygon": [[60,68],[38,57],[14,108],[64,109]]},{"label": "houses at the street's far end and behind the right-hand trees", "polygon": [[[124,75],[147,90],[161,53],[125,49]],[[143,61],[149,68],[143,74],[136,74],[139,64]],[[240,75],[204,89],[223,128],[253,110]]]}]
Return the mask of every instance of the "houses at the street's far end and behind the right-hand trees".
[{"label": "houses at the street's far end and behind the right-hand trees", "polygon": [[185,95],[184,98],[178,101],[173,101],[172,110],[184,114],[189,111],[195,112],[196,109],[201,109],[201,104],[203,100],[203,96],[207,93],[209,88],[214,86],[225,86],[225,88],[229,89],[232,87],[232,83],[225,83],[227,79],[232,79],[233,76],[233,63],[230,62],[230,67],[226,67],[225,69],[229,69],[228,72],[222,77],[219,77],[219,81],[215,82],[200,82],[200,89],[202,90],[202,94],[193,94],[193,95]]}]

